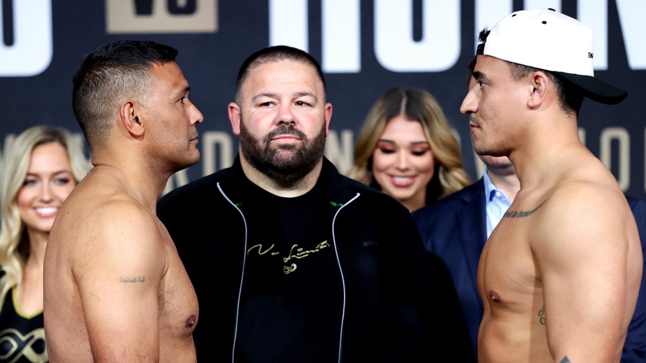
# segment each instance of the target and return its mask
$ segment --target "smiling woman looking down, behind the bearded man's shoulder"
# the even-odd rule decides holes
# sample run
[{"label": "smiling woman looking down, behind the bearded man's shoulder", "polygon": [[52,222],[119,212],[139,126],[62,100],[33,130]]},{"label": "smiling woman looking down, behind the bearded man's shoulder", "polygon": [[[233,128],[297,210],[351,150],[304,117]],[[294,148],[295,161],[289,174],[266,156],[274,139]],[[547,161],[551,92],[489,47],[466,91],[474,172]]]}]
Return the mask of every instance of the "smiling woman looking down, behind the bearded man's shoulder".
[{"label": "smiling woman looking down, behind the bearded man's shoulder", "polygon": [[441,107],[419,88],[393,88],[373,105],[357,137],[349,176],[409,211],[470,184]]}]

